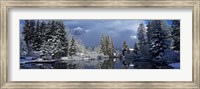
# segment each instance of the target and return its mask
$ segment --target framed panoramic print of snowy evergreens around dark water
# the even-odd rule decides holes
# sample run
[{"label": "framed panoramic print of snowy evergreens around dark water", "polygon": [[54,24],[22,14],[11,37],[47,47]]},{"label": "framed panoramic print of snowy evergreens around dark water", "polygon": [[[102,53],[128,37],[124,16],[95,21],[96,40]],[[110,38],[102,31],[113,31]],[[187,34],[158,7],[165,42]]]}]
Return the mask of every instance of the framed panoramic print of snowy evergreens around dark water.
[{"label": "framed panoramic print of snowy evergreens around dark water", "polygon": [[180,20],[20,20],[20,69],[180,69]]}]

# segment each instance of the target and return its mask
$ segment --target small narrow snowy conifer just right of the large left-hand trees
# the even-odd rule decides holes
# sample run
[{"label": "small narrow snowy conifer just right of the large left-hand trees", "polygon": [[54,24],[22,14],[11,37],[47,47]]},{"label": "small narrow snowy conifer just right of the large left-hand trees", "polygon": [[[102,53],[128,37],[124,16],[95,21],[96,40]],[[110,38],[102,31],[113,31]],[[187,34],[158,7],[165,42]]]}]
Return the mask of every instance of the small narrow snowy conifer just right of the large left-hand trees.
[{"label": "small narrow snowy conifer just right of the large left-hand trees", "polygon": [[76,55],[76,44],[75,39],[72,37],[69,47],[69,56]]}]

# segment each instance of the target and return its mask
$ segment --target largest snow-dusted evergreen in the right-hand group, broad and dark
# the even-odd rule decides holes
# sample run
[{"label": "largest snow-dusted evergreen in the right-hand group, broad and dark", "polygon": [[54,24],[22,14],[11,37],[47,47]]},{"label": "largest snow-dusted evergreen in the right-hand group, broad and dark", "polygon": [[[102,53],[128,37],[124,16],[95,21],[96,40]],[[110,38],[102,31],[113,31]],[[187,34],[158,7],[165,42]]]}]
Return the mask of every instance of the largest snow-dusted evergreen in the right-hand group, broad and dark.
[{"label": "largest snow-dusted evergreen in the right-hand group, broad and dark", "polygon": [[167,26],[164,21],[153,20],[148,23],[147,27],[147,37],[151,59],[163,60],[162,56],[164,54],[164,50],[169,47],[166,43],[166,39],[168,38],[168,34],[166,33]]}]

